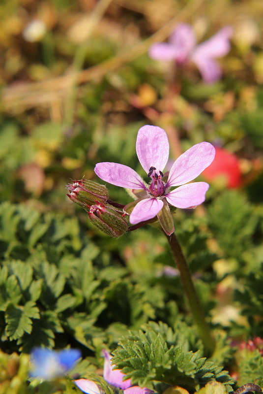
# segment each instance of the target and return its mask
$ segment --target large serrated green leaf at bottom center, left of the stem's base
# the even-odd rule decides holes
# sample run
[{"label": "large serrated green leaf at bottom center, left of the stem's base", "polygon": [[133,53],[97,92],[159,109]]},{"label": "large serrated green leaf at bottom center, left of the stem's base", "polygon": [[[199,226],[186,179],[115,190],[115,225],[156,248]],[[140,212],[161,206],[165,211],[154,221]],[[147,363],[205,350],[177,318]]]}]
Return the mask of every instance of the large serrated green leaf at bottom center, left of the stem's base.
[{"label": "large serrated green leaf at bottom center, left of the stem's base", "polygon": [[176,341],[168,345],[166,336],[169,335],[170,340],[176,336],[163,324],[160,328],[155,323],[145,325],[144,331],[131,331],[121,338],[120,348],[113,352],[113,363],[132,379],[132,384],[148,387],[152,380],[157,380],[171,386],[183,386],[187,382],[187,387],[195,389],[219,380],[232,390],[233,380],[226,371],[222,373],[223,367],[207,361],[201,351],[184,351]]}]

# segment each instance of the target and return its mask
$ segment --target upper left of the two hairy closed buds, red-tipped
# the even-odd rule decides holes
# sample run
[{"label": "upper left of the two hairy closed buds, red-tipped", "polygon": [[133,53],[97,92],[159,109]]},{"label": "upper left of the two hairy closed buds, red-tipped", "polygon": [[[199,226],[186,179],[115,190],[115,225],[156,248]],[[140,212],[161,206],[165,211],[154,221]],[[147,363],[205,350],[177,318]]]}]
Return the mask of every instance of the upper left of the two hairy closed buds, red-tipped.
[{"label": "upper left of the two hairy closed buds, red-tipped", "polygon": [[70,192],[67,196],[85,209],[96,203],[104,203],[109,198],[109,192],[106,186],[99,183],[80,179],[67,185]]}]

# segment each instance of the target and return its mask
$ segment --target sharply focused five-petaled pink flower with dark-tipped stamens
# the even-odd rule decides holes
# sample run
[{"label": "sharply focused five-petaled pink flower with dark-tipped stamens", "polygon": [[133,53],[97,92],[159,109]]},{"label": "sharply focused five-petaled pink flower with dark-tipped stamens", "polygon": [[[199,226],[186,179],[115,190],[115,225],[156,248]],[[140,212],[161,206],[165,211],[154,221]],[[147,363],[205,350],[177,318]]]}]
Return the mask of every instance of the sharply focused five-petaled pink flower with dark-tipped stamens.
[{"label": "sharply focused five-petaled pink flower with dark-tipped stamens", "polygon": [[[163,182],[163,169],[169,157],[169,142],[166,132],[160,127],[143,126],[138,131],[136,152],[147,177],[149,185],[137,172],[127,165],[117,163],[98,163],[95,173],[104,181],[123,188],[141,190],[137,204],[130,214],[130,223],[137,224],[154,218],[160,220],[161,212],[167,212],[168,204],[177,208],[190,208],[205,201],[205,193],[209,188],[206,182],[187,183],[195,179],[212,163],[215,148],[209,142],[201,142],[183,153],[173,164],[167,182]],[[186,184],[186,185],[185,185]],[[179,186],[174,190],[171,187]],[[164,212],[163,212],[164,213]],[[170,211],[169,211],[170,213]]]}]

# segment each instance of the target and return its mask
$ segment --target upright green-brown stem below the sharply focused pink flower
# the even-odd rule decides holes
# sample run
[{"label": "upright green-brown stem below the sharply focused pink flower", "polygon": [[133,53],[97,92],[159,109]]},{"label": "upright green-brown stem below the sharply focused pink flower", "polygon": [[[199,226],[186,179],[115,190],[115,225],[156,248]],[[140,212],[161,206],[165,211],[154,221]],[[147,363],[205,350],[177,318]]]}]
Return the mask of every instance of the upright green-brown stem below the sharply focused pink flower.
[{"label": "upright green-brown stem below the sharply focused pink flower", "polygon": [[215,349],[215,341],[205,321],[205,315],[199,297],[197,295],[196,289],[194,287],[191,273],[186,263],[185,257],[183,255],[181,246],[179,244],[179,241],[175,233],[173,233],[171,236],[166,235],[166,237],[168,239],[169,246],[172,250],[172,254],[175,259],[177,268],[180,271],[183,288],[188,297],[188,301],[193,313],[193,318],[198,327],[199,334],[203,340],[206,351],[212,354]]}]

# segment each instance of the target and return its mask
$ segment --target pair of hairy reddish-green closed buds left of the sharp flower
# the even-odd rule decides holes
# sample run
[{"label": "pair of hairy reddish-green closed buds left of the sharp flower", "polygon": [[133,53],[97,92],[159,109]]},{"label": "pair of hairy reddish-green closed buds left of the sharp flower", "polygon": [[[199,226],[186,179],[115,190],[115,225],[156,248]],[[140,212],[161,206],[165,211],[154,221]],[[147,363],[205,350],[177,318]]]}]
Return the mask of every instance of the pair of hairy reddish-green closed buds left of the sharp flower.
[{"label": "pair of hairy reddish-green closed buds left of the sharp flower", "polygon": [[87,212],[89,220],[101,231],[118,238],[128,231],[122,211],[107,203],[109,192],[106,186],[80,179],[67,185],[67,196]]}]

